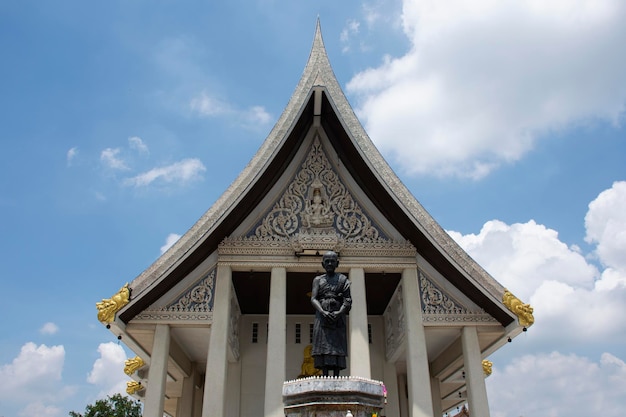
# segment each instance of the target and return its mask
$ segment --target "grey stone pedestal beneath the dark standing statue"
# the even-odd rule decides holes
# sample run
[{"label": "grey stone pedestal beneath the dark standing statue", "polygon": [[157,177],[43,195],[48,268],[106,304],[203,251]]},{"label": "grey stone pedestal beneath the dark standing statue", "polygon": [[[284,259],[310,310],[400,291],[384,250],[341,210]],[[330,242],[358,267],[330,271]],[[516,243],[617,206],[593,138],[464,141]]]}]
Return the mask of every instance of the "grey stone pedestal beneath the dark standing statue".
[{"label": "grey stone pedestal beneath the dark standing statue", "polygon": [[283,384],[286,417],[380,416],[385,405],[380,381],[354,376],[309,377]]}]

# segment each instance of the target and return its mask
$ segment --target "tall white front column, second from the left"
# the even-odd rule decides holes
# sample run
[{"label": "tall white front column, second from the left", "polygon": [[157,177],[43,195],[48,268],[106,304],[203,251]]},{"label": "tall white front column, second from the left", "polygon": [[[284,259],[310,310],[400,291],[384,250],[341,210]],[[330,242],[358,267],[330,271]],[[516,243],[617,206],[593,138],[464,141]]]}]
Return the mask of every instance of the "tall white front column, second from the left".
[{"label": "tall white front column, second from the left", "polygon": [[211,323],[209,353],[204,377],[202,417],[223,417],[226,415],[228,325],[230,322],[232,288],[232,271],[230,267],[218,265],[215,281],[213,322]]}]

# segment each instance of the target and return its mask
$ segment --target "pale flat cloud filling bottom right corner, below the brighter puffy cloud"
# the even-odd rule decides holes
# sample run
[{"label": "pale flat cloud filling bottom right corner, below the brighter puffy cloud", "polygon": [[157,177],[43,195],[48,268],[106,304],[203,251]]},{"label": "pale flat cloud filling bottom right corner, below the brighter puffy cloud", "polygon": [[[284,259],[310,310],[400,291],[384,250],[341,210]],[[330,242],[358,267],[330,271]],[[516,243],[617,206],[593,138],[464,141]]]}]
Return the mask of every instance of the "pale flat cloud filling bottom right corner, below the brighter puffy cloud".
[{"label": "pale flat cloud filling bottom right corner, below the brighter puffy cloud", "polygon": [[[624,413],[626,364],[574,354],[525,355],[486,380],[492,417],[618,417]],[[557,400],[558,399],[558,400]]]}]

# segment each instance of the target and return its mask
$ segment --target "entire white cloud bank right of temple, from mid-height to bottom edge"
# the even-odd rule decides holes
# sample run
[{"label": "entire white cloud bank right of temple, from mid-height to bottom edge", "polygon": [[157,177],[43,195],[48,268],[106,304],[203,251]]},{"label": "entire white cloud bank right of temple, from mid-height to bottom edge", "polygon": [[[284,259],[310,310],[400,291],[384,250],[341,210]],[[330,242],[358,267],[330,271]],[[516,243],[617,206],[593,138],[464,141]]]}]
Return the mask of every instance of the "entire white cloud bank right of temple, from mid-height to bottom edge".
[{"label": "entire white cloud bank right of temple, from mid-height to bottom edge", "polygon": [[[493,220],[478,234],[449,232],[534,308],[535,324],[522,340],[528,354],[499,364],[487,380],[493,416],[623,412],[626,358],[616,355],[624,354],[626,344],[626,270],[613,254],[626,253],[626,241],[618,238],[626,233],[624,184],[616,182],[601,192],[585,217],[587,240],[597,245],[604,269],[592,263],[595,258],[561,242],[556,231],[532,220],[513,225]],[[506,350],[496,355],[502,359]]]}]

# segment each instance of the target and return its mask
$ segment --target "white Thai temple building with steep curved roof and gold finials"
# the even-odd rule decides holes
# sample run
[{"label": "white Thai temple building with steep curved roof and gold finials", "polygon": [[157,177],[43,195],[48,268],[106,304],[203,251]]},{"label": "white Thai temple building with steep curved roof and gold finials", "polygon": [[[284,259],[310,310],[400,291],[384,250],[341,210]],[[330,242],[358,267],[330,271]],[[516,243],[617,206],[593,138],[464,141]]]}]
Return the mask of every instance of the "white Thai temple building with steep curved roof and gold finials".
[{"label": "white Thai temple building with steep curved roof and gold finials", "polygon": [[488,417],[487,358],[532,325],[532,308],[383,159],[333,74],[319,23],[302,78],[250,163],[176,244],[97,303],[136,355],[125,371],[143,415],[284,416],[283,383],[317,373],[310,294],[328,250],[352,285],[342,375],[382,381],[389,417],[464,404]]}]

